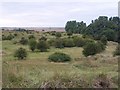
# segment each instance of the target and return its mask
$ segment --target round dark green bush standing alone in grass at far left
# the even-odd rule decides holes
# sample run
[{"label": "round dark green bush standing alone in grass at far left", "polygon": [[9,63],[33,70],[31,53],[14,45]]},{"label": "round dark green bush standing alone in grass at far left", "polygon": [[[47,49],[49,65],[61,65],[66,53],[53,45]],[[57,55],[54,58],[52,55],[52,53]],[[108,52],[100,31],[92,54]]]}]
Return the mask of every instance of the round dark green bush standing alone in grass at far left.
[{"label": "round dark green bush standing alone in grass at far left", "polygon": [[15,51],[14,57],[17,57],[19,60],[25,59],[27,57],[27,52],[24,48],[19,48]]}]

